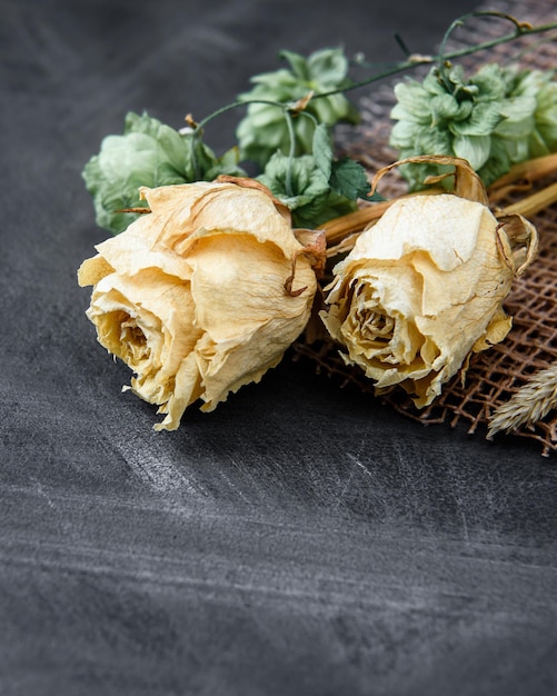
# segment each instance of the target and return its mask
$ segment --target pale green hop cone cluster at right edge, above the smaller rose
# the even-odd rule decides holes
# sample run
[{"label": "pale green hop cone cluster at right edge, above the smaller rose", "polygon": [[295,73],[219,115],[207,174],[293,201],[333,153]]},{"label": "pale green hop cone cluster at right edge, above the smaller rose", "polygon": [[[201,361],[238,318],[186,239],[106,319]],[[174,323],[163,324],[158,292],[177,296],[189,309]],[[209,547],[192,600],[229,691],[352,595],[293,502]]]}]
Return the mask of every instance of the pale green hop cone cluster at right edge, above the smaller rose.
[{"label": "pale green hop cone cluster at right edge, above the smaller rose", "polygon": [[[407,79],[395,87],[397,121],[390,145],[406,159],[418,155],[461,157],[485,186],[511,165],[557,149],[557,86],[553,73],[517,72],[496,63],[483,66],[466,79],[460,66],[432,68],[424,82]],[[405,165],[401,173],[410,190],[422,188],[427,171]]]}]

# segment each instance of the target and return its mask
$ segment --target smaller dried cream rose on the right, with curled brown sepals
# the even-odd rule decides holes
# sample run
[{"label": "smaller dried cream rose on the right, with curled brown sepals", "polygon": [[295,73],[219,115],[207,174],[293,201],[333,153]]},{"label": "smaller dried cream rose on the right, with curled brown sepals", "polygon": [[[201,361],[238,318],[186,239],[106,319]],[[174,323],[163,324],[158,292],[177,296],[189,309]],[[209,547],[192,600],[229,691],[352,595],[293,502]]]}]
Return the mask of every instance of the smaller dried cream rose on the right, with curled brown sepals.
[{"label": "smaller dried cream rose on the right, with curled brown sepals", "polygon": [[[452,193],[398,199],[334,269],[321,318],[378,394],[400,385],[418,407],[432,401],[471,352],[505,338],[501,304],[536,252],[536,230],[520,216],[497,219],[464,160]],[[376,181],[396,162],[378,172]]]}]

